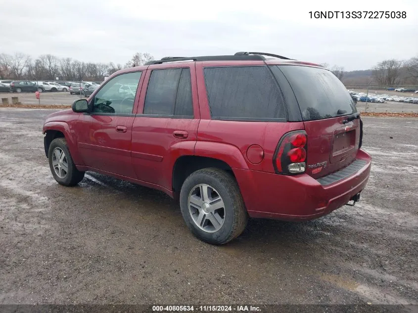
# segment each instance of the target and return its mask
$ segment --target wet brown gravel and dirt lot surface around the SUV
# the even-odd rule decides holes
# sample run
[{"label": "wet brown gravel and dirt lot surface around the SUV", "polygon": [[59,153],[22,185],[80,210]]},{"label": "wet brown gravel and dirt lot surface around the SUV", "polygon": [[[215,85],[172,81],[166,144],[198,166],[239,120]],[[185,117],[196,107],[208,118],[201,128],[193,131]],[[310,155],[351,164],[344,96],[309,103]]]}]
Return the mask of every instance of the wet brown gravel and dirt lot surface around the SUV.
[{"label": "wet brown gravel and dirt lot surface around the SUV", "polygon": [[58,185],[51,112],[0,109],[0,304],[418,304],[418,119],[364,118],[373,165],[355,207],[252,220],[211,246],[161,192],[95,173]]}]

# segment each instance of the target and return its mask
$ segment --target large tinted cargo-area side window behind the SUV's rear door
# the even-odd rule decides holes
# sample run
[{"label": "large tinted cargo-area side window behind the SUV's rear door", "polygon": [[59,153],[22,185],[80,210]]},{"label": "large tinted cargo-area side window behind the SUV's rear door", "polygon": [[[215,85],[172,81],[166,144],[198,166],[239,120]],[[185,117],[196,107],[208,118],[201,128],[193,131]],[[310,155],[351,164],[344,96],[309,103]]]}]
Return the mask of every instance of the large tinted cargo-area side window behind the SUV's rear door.
[{"label": "large tinted cargo-area side window behind the SUV's rear door", "polygon": [[285,121],[279,87],[266,66],[204,69],[212,119]]}]

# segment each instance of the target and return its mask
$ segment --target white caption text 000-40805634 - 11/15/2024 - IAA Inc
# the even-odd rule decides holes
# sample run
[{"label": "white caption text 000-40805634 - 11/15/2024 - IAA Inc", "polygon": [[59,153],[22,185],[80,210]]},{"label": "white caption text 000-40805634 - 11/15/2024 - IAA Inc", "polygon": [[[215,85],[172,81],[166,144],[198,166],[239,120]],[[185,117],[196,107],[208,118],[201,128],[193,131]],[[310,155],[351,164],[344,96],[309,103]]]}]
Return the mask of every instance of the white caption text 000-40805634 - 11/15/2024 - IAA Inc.
[{"label": "white caption text 000-40805634 - 11/15/2024 - IAA Inc", "polygon": [[152,306],[152,312],[261,312],[257,306]]}]

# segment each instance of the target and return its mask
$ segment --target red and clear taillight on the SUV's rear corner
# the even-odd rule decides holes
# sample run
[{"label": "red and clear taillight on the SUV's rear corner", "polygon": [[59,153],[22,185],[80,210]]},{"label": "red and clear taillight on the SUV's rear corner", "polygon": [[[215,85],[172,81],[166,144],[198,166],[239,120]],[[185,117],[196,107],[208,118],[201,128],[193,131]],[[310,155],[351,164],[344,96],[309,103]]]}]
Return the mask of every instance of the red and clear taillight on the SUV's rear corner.
[{"label": "red and clear taillight on the SUV's rear corner", "polygon": [[283,135],[274,155],[273,166],[278,174],[301,174],[306,169],[308,138],[305,131]]}]

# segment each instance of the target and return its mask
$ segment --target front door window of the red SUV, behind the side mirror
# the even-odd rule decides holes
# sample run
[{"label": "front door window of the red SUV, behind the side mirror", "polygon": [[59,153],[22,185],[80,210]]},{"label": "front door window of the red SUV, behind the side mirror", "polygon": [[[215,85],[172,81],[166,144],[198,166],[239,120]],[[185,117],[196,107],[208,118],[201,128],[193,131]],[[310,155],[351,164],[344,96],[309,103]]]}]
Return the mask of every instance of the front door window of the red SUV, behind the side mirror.
[{"label": "front door window of the red SUV, behind the side mirror", "polygon": [[141,74],[125,73],[106,82],[93,98],[93,112],[131,114]]}]

